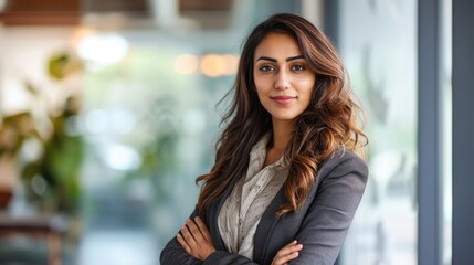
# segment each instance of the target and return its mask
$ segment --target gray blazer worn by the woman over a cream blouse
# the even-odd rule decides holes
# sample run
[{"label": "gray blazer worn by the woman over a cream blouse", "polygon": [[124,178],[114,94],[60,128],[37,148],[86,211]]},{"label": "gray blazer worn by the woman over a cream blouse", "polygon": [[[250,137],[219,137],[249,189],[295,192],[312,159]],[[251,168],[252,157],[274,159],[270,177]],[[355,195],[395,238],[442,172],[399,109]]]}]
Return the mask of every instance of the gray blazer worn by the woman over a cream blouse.
[{"label": "gray blazer worn by the woman over a cream blouse", "polygon": [[[162,250],[160,262],[162,265],[272,264],[278,250],[297,240],[303,250],[291,264],[333,265],[359,205],[367,178],[366,162],[348,150],[340,150],[319,167],[316,183],[302,210],[277,218],[275,212],[286,201],[282,187],[256,229],[254,261],[228,252],[219,233],[218,215],[232,190],[230,187],[220,200],[209,206],[204,220],[217,251],[202,262],[186,253],[173,237]],[[197,214],[194,210],[191,218]]]}]

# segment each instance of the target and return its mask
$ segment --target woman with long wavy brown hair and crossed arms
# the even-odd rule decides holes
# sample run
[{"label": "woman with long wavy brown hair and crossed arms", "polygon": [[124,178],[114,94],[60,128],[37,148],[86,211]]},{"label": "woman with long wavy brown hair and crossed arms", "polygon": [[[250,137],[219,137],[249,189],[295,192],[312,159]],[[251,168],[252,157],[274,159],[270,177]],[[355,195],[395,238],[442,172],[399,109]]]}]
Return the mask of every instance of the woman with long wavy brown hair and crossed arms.
[{"label": "woman with long wavy brown hair and crossed arms", "polygon": [[345,67],[305,19],[244,44],[215,165],[161,264],[334,264],[368,170]]}]

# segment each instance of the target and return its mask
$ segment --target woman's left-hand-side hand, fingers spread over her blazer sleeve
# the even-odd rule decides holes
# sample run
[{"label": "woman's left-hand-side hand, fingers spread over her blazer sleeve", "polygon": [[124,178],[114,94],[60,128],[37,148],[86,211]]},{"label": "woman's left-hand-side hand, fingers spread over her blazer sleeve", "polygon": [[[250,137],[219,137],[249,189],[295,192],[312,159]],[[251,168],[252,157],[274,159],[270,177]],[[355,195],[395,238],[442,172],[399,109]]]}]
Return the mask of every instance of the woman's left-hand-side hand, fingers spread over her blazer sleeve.
[{"label": "woman's left-hand-side hand, fingers spread over her blazer sleeve", "polygon": [[189,255],[201,261],[215,251],[211,234],[200,218],[194,218],[194,221],[188,219],[176,239]]}]

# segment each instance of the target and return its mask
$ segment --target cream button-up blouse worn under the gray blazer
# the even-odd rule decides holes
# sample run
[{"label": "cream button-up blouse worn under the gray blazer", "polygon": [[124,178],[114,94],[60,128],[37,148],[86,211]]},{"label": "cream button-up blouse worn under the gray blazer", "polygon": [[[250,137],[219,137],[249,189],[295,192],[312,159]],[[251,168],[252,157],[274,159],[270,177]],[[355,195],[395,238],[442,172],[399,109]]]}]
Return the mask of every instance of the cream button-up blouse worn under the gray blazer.
[{"label": "cream button-up blouse worn under the gray blazer", "polygon": [[225,247],[250,259],[253,259],[256,226],[289,170],[284,156],[262,169],[268,140],[270,134],[252,147],[246,176],[236,182],[219,213],[219,232]]}]

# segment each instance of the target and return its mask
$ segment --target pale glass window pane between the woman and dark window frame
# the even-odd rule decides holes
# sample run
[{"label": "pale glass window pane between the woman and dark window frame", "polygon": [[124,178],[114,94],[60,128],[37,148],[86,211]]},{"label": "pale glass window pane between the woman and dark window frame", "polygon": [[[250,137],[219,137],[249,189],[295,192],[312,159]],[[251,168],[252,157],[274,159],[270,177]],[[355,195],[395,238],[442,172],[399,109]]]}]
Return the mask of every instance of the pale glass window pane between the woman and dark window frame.
[{"label": "pale glass window pane between the woman and dark window frame", "polygon": [[417,2],[343,0],[339,13],[339,51],[370,139],[341,264],[417,264]]}]

